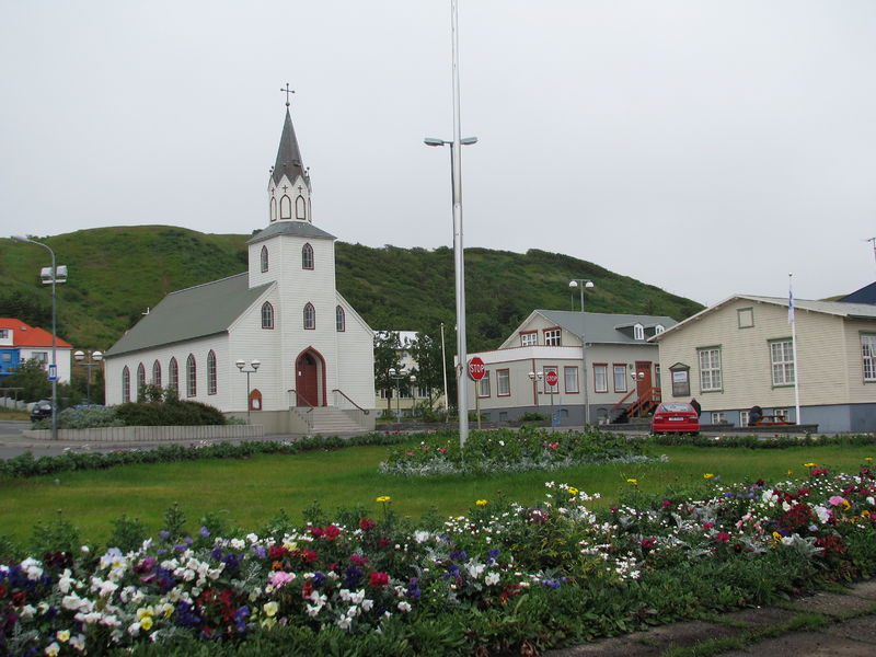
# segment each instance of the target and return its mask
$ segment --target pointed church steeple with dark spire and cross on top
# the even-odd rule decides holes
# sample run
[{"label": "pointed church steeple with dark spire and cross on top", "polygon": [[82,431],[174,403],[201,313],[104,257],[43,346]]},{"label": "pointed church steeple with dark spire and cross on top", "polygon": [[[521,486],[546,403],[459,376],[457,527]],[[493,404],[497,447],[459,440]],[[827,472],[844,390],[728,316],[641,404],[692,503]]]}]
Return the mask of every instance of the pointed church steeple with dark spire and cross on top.
[{"label": "pointed church steeple with dark spire and cross on top", "polygon": [[268,203],[270,222],[312,221],[310,216],[310,175],[301,161],[301,150],[289,114],[289,94],[295,93],[286,85],[286,120],[283,124],[277,160],[268,180]]}]

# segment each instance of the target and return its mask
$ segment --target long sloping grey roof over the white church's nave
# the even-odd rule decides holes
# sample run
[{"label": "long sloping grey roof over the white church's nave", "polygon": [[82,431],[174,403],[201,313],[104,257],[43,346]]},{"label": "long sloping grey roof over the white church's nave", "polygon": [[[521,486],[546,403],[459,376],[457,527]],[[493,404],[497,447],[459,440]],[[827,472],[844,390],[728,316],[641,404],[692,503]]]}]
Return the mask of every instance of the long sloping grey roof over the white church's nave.
[{"label": "long sloping grey roof over the white church's nave", "polygon": [[105,358],[228,331],[273,283],[249,287],[249,274],[171,292],[104,354]]}]

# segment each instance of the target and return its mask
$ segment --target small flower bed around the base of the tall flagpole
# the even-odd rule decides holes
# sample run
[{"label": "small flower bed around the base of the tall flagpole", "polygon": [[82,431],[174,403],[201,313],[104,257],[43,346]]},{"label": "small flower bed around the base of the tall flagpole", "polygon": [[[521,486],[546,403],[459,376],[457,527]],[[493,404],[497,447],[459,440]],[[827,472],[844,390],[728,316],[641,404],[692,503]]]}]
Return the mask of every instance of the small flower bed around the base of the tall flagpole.
[{"label": "small flower bed around the base of the tall flagpole", "polygon": [[572,465],[653,460],[644,454],[642,441],[630,440],[622,434],[598,430],[551,433],[523,427],[519,431],[473,431],[464,449],[458,438],[430,436],[418,446],[405,445],[393,450],[379,470],[404,476],[430,476],[552,471]]}]

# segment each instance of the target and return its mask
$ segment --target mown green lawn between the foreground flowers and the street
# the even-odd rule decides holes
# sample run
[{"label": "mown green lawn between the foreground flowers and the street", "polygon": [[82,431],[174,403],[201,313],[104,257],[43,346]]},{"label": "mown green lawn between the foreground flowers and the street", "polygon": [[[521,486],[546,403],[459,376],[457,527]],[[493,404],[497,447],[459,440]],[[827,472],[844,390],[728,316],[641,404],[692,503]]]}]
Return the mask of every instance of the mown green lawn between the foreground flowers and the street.
[{"label": "mown green lawn between the foreground flowers and the street", "polygon": [[256,529],[280,508],[293,518],[314,500],[325,510],[365,505],[378,512],[374,498],[392,497],[403,516],[419,518],[435,507],[441,516],[468,511],[476,499],[495,498],[497,492],[521,503],[543,498],[544,482],[568,483],[587,493],[601,493],[602,505],[637,479],[644,491],[702,482],[708,472],[725,482],[762,477],[775,481],[787,472],[805,475],[803,463],[816,462],[833,471],[856,471],[871,447],[795,447],[748,450],[696,447],[655,447],[668,463],[645,465],[588,465],[556,472],[528,472],[492,476],[400,479],[381,475],[378,463],[388,447],[355,447],[292,456],[258,456],[243,460],[206,460],[184,463],[126,465],[106,471],[69,472],[28,480],[0,481],[0,534],[26,540],[37,520],[50,519],[58,509],[85,540],[105,541],[110,521],[123,514],[140,518],[150,530],[161,527],[165,509],[178,502],[192,530],[208,511],[222,510],[246,530]]}]

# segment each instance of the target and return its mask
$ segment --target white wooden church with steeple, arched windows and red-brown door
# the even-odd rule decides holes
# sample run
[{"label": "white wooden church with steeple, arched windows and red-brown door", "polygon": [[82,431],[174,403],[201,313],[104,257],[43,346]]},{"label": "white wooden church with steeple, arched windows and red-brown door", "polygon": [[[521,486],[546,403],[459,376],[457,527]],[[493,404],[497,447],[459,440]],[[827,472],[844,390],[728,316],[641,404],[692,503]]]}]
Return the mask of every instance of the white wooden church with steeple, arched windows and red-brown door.
[{"label": "white wooden church with steeple, arched windows and red-brown door", "polygon": [[288,107],[249,270],[171,292],[113,345],[107,404],[152,383],[266,434],[373,428],[373,331],[335,287],[335,238],[313,226]]}]

